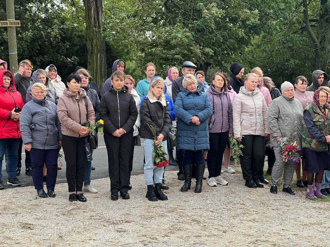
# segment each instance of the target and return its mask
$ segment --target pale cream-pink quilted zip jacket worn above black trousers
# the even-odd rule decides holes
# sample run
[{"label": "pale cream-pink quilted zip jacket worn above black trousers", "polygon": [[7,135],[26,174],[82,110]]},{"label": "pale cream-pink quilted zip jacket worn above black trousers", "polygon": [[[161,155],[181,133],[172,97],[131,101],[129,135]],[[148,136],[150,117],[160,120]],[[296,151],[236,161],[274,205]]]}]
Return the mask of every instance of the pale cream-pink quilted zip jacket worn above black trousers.
[{"label": "pale cream-pink quilted zip jacket worn above black trousers", "polygon": [[268,107],[260,90],[249,92],[241,87],[233,105],[234,137],[269,134],[267,115]]}]

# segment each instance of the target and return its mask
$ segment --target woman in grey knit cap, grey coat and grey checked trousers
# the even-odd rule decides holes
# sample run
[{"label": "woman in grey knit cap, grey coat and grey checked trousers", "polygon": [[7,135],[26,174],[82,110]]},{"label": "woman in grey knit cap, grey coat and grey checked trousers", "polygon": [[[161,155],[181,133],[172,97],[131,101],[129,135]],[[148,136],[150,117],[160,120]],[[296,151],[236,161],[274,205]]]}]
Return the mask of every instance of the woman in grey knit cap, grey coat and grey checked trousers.
[{"label": "woman in grey knit cap, grey coat and grey checked trousers", "polygon": [[286,137],[289,142],[296,142],[301,148],[303,111],[299,100],[293,97],[294,88],[290,82],[282,83],[281,91],[282,95],[274,99],[268,109],[270,144],[274,148],[276,158],[272,169],[270,192],[277,194],[277,186],[284,170],[283,192],[295,195],[290,187],[295,170],[295,161],[293,159],[283,161],[279,152],[279,143],[281,138]]}]

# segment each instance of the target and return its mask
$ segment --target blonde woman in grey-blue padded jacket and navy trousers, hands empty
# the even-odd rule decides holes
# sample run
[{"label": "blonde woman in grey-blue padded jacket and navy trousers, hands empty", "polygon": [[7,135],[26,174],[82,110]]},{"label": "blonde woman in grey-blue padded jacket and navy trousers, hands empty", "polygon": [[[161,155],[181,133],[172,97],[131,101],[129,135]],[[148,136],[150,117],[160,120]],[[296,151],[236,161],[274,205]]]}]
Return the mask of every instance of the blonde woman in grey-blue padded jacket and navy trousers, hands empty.
[{"label": "blonde woman in grey-blue padded jacket and navy trousers, hands empty", "polygon": [[[62,144],[56,105],[47,99],[46,91],[44,84],[33,84],[33,98],[24,105],[19,126],[24,149],[31,154],[34,188],[42,198],[55,197],[58,147]],[[47,194],[43,189],[44,164],[47,167]]]}]

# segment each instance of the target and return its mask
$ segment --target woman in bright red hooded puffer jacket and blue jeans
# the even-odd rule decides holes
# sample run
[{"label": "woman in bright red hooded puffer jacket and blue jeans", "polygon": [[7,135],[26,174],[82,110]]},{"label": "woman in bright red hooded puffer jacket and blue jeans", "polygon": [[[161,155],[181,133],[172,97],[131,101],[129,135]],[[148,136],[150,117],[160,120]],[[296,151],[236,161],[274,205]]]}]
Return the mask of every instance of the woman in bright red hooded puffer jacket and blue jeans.
[{"label": "woman in bright red hooded puffer jacket and blue jeans", "polygon": [[2,160],[6,149],[7,184],[20,186],[16,178],[17,150],[19,145],[19,115],[23,108],[22,96],[17,92],[15,81],[9,70],[0,70],[0,189],[4,189],[2,181]]}]

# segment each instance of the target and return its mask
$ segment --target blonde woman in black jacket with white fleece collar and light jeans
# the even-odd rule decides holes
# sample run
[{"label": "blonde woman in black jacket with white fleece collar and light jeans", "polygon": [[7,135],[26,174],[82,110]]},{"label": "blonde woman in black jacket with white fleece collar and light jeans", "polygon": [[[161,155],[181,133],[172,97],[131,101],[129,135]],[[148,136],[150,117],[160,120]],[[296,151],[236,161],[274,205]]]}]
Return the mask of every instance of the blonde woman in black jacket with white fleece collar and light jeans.
[{"label": "blonde woman in black jacket with white fleece collar and light jeans", "polygon": [[141,138],[144,138],[146,160],[144,174],[148,187],[146,198],[152,202],[167,200],[167,196],[161,190],[164,167],[158,165],[159,160],[156,159],[159,157],[155,157],[156,151],[162,154],[167,151],[166,139],[171,130],[171,118],[164,89],[164,80],[161,77],[153,79],[150,82],[148,95],[142,101],[140,108],[140,134]]}]

